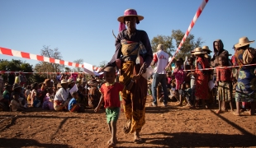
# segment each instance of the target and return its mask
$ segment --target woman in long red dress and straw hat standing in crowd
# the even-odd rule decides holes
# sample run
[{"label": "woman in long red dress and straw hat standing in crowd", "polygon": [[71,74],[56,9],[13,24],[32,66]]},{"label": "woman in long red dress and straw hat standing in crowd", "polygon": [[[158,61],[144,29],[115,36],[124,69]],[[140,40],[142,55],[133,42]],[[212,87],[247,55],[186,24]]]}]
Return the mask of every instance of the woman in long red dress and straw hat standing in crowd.
[{"label": "woman in long red dress and straw hat standing in crowd", "polygon": [[209,80],[209,71],[204,70],[205,68],[209,68],[209,62],[204,57],[205,52],[202,51],[200,47],[194,50],[194,54],[197,57],[196,60],[196,107],[198,107],[198,101],[201,99],[202,107],[206,108],[205,99],[208,99],[208,80]]}]

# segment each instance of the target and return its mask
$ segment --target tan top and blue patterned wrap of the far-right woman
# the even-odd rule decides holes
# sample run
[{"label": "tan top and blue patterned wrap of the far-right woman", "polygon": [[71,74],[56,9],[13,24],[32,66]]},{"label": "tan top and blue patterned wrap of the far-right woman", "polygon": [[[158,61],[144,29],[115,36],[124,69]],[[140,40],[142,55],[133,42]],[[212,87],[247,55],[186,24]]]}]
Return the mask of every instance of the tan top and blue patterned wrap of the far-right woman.
[{"label": "tan top and blue patterned wrap of the far-right woman", "polygon": [[[256,76],[255,66],[244,67],[245,50],[238,50],[235,53],[235,58],[239,63],[239,77],[235,90],[235,101],[237,102],[254,102],[256,100]],[[252,60],[254,61],[254,60]],[[255,63],[255,62],[251,62]]]}]

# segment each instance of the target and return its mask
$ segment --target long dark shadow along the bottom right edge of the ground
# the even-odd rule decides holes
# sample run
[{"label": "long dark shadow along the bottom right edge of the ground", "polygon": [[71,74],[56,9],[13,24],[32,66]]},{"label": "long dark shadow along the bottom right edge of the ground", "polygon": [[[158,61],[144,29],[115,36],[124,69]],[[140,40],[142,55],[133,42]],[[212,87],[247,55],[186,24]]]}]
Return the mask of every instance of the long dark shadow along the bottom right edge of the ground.
[{"label": "long dark shadow along the bottom right edge of the ground", "polygon": [[[157,132],[146,135],[154,135],[157,138],[145,138],[145,143],[171,147],[244,147],[256,146],[253,135],[224,135],[194,132]],[[189,140],[188,140],[189,139]],[[187,141],[188,140],[188,141]]]}]

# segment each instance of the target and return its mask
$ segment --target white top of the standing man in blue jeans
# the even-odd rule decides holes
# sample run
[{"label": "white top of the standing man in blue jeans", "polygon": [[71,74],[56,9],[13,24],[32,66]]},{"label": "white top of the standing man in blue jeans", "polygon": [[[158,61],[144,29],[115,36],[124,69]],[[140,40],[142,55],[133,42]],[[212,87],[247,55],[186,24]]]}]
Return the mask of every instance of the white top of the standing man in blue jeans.
[{"label": "white top of the standing man in blue jeans", "polygon": [[155,63],[154,72],[159,74],[166,74],[165,67],[168,64],[168,53],[165,53],[163,50],[159,50],[154,53],[153,60]]}]

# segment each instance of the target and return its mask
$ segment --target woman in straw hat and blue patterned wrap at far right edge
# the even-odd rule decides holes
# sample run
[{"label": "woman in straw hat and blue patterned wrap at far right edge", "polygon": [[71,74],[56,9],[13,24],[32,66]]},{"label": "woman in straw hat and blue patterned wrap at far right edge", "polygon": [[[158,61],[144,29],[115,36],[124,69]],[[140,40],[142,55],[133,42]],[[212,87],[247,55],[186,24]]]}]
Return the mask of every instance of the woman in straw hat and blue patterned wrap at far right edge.
[{"label": "woman in straw hat and blue patterned wrap at far right edge", "polygon": [[239,77],[235,90],[235,102],[236,112],[235,115],[239,115],[240,102],[248,102],[251,105],[249,111],[250,115],[255,112],[255,101],[256,101],[256,76],[255,66],[247,66],[249,64],[256,63],[256,52],[255,49],[249,48],[249,44],[253,43],[249,41],[247,37],[239,39],[239,43],[235,44],[237,51],[235,52],[235,58],[240,66]]}]

